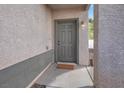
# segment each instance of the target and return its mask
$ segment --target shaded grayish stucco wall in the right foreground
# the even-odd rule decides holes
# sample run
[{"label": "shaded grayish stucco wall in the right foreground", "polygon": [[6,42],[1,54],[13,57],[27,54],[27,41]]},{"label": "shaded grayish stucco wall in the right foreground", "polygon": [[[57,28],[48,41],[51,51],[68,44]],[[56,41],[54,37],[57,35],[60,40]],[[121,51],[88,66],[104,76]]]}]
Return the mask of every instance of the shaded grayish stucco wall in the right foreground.
[{"label": "shaded grayish stucco wall in the right foreground", "polygon": [[96,87],[124,87],[124,5],[99,5],[97,13]]}]

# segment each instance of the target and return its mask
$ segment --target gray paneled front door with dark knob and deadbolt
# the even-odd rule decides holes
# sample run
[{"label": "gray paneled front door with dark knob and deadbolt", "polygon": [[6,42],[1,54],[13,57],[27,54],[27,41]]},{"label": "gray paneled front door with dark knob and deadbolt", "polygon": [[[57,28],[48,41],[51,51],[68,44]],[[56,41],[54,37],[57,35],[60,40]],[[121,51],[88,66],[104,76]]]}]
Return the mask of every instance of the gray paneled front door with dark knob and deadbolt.
[{"label": "gray paneled front door with dark knob and deadbolt", "polygon": [[76,62],[76,21],[56,22],[56,61]]}]

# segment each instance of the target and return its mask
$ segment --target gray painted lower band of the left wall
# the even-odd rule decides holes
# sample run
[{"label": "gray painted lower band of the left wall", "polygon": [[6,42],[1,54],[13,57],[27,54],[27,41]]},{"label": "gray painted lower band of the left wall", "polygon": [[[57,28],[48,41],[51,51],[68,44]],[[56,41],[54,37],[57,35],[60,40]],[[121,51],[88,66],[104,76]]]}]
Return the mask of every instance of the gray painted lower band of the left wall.
[{"label": "gray painted lower band of the left wall", "polygon": [[54,62],[53,49],[1,70],[0,87],[27,87],[50,62]]}]

